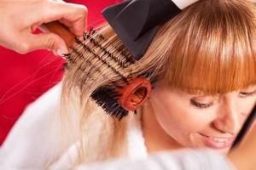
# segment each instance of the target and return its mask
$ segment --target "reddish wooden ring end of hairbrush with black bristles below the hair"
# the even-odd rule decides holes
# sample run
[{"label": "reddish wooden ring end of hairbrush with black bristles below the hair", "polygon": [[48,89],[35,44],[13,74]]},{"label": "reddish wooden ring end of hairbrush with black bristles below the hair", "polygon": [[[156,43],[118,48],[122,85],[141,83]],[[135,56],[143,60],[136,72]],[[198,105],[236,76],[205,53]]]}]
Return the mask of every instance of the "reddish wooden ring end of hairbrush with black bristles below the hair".
[{"label": "reddish wooden ring end of hairbrush with black bristles below the hair", "polygon": [[151,83],[146,77],[134,77],[127,82],[122,82],[121,85],[112,82],[97,88],[90,96],[108,115],[121,120],[129,111],[136,113],[151,93]]}]

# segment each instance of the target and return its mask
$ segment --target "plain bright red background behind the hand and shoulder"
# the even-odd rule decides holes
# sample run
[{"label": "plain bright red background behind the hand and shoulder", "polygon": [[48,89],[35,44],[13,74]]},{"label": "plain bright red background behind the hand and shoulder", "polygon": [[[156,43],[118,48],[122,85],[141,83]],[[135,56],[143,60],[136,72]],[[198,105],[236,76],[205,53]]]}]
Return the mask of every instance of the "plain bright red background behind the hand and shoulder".
[{"label": "plain bright red background behind the hand and shoulder", "polygon": [[[70,0],[68,3],[84,4],[89,9],[88,27],[104,19],[101,11],[121,0]],[[61,80],[63,59],[46,50],[29,54],[16,54],[0,47],[0,145],[6,138],[26,105]]]}]

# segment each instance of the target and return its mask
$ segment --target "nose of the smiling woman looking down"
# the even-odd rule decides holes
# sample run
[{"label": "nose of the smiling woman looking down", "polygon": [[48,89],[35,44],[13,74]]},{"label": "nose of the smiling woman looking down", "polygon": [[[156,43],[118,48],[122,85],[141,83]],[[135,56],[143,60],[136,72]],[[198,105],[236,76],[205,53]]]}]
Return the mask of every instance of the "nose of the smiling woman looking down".
[{"label": "nose of the smiling woman looking down", "polygon": [[213,125],[223,133],[236,134],[241,127],[240,115],[236,104],[228,102],[219,109],[218,117],[213,121]]}]

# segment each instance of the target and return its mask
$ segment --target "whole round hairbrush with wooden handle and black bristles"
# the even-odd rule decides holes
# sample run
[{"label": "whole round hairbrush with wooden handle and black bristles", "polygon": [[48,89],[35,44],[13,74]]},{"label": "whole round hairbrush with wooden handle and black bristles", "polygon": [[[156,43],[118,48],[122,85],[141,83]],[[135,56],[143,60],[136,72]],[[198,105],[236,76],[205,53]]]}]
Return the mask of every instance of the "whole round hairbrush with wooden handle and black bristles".
[{"label": "whole round hairbrush with wooden handle and black bristles", "polygon": [[[83,41],[80,41],[80,38],[76,38],[73,33],[68,31],[67,27],[61,25],[61,23],[58,21],[44,24],[44,26],[49,31],[52,31],[55,34],[61,36],[67,42],[67,45],[73,49],[71,54],[64,54],[67,57],[67,62],[69,60],[72,61],[72,58],[78,58],[79,56],[81,56],[79,59],[84,59],[83,56],[85,55],[83,53],[94,54],[93,49],[89,48],[89,46],[87,46]],[[90,32],[95,33],[95,31]],[[117,63],[119,61],[118,57],[114,58],[113,53],[108,51],[108,47],[103,47],[101,42],[96,42],[96,39],[94,39],[90,33],[88,34],[85,32],[84,38],[89,38],[89,42],[91,42],[94,47],[101,48],[102,52],[104,52],[103,54],[107,54],[113,62]],[[103,36],[102,39],[104,39]],[[79,47],[83,47],[83,51],[86,52],[81,52],[81,48],[73,47],[74,44],[78,45]],[[124,48],[122,50],[124,50]],[[151,84],[146,77],[124,77],[118,71],[118,68],[108,63],[108,60],[105,59],[106,57],[102,57],[97,54],[94,54],[93,56],[95,59],[101,61],[102,65],[107,65],[107,69],[112,70],[113,73],[120,77],[119,81],[109,82],[109,85],[107,86],[96,88],[96,90],[90,95],[90,97],[96,101],[96,104],[100,105],[108,115],[117,117],[120,120],[126,116],[129,111],[136,111],[147,101],[151,92]],[[125,61],[118,63],[119,68],[122,68],[122,66],[125,67],[124,65],[120,66],[120,64],[130,63],[129,65],[131,65],[135,62],[134,60],[135,59],[132,55],[128,58],[126,53]],[[87,60],[87,62],[89,61]],[[70,65],[75,65],[75,63],[71,62]],[[93,64],[91,63],[90,65]],[[99,64],[93,65],[93,67],[97,66],[100,67]],[[99,70],[100,69],[98,69],[98,71]],[[106,78],[108,79],[108,77]]]}]

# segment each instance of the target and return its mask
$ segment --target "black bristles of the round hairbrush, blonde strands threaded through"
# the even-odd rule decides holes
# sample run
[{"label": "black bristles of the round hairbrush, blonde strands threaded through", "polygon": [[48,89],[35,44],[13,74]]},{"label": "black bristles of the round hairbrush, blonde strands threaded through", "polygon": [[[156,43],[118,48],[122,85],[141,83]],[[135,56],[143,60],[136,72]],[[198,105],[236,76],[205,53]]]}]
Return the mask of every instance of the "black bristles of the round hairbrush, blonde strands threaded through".
[{"label": "black bristles of the round hairbrush, blonde strands threaded through", "polygon": [[[134,64],[136,60],[124,45],[119,45],[117,40],[108,42],[106,37],[93,28],[91,28],[89,32],[84,32],[82,38],[75,38],[75,42],[78,45],[77,48],[72,48],[71,54],[64,55],[68,61],[65,67],[68,69],[69,64],[75,65],[78,67],[78,70],[84,74],[84,79],[81,80],[80,83],[81,86],[83,86],[88,79],[93,79],[93,77],[90,77],[90,71],[96,71],[102,77],[108,79],[108,75],[105,75],[104,71],[102,71],[102,65],[106,66],[104,69],[112,71],[113,74],[119,77],[117,82],[109,82],[108,86],[96,88],[96,90],[90,94],[90,97],[97,105],[102,107],[109,116],[121,120],[124,116],[128,115],[129,111],[119,105],[119,98],[122,94],[119,94],[120,92],[116,89],[122,89],[125,85],[129,84],[123,70]],[[97,52],[95,48],[99,49],[99,52]],[[86,53],[91,54],[91,56],[86,56],[86,53],[80,52],[81,50],[86,51]],[[79,59],[83,59],[85,66],[89,66],[91,69],[86,70],[84,64],[78,65]],[[134,75],[131,75],[131,77],[134,77]]]}]

